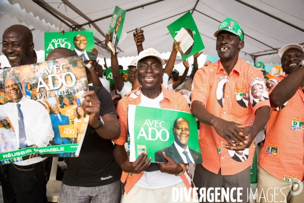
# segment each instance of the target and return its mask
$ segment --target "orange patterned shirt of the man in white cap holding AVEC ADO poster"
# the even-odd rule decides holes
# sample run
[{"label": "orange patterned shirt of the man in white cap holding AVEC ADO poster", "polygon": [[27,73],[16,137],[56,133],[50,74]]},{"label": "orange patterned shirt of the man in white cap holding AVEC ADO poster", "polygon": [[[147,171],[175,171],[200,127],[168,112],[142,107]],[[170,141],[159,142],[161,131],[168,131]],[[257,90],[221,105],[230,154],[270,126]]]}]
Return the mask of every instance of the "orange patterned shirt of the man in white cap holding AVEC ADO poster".
[{"label": "orange patterned shirt of the man in white cap holding AVEC ADO poster", "polygon": [[[165,89],[164,86],[162,86],[162,90],[164,93],[164,99],[160,102],[160,106],[162,109],[171,109],[171,110],[178,110],[178,111],[184,111],[191,113],[189,106],[187,104],[187,101],[185,97],[183,97],[181,94],[176,93],[174,91],[170,91],[168,89]],[[117,140],[112,140],[115,144],[117,145],[124,145],[125,142],[127,141],[128,137],[128,118],[127,118],[127,113],[128,113],[128,107],[129,105],[139,105],[141,102],[141,87],[139,87],[136,90],[133,90],[128,93],[126,97],[121,99],[118,102],[117,106],[117,113],[119,115],[119,123],[121,126],[121,135],[119,139]],[[144,172],[141,172],[140,174],[129,174],[123,172],[121,181],[123,183],[126,183],[125,185],[125,192],[128,194],[132,187],[137,183],[137,181],[141,178]],[[180,176],[180,178],[183,180],[185,185],[190,188],[191,184],[188,182],[186,176],[183,174]],[[164,180],[165,181],[165,180]]]}]

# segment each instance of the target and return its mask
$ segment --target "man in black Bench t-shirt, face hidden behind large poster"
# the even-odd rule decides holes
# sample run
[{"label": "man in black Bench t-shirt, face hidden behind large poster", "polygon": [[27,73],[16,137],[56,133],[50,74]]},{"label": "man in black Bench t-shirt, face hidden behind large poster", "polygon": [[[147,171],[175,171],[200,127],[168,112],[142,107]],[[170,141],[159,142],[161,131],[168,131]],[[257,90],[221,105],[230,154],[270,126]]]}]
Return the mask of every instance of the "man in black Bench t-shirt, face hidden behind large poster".
[{"label": "man in black Bench t-shirt, face hidden behind large poster", "polygon": [[[74,55],[68,49],[57,48],[49,53],[47,60]],[[87,67],[86,73],[88,83],[92,83]],[[111,142],[111,139],[119,138],[120,125],[112,98],[106,89],[94,86],[90,86],[82,97],[85,98],[83,110],[90,115],[89,125],[79,157],[64,158],[67,169],[60,202],[120,202],[122,171],[113,158]]]}]

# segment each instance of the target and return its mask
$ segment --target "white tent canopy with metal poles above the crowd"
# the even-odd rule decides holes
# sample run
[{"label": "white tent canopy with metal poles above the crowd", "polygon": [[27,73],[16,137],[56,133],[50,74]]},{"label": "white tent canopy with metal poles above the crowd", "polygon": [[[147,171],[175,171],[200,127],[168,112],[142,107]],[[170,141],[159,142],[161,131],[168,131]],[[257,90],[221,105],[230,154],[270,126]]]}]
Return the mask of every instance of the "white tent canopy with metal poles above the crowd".
[{"label": "white tent canopy with metal poles above the crowd", "polygon": [[[15,10],[4,9],[4,6]],[[192,12],[200,30],[205,45],[204,54],[211,56],[217,56],[213,33],[227,17],[236,20],[245,33],[245,47],[240,52],[240,58],[246,61],[253,62],[255,59],[256,62],[280,63],[277,55],[279,48],[291,43],[304,44],[302,0],[94,0],[85,3],[80,0],[2,0],[0,32],[16,24],[14,16],[20,23],[31,25],[42,33],[93,29],[99,57],[109,57],[108,48],[104,46],[104,33],[115,6],[127,11],[123,29],[128,35],[118,48],[119,57],[137,55],[132,34],[136,27],[144,30],[144,48],[154,47],[161,53],[171,51],[173,39],[167,25],[187,11]],[[16,13],[20,8],[24,10]],[[6,16],[12,20],[3,23]],[[39,49],[44,47],[43,38],[43,35],[34,38]]]}]

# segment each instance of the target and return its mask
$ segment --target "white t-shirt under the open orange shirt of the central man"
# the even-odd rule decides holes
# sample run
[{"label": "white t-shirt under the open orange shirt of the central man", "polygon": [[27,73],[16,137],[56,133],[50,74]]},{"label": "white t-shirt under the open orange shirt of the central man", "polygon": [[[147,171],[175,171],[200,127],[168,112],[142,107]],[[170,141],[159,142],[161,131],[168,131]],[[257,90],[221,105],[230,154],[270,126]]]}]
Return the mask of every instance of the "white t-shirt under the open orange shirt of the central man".
[{"label": "white t-shirt under the open orange shirt of the central man", "polygon": [[[165,75],[165,74],[164,74]],[[167,74],[166,74],[167,75]],[[168,81],[168,80],[167,80]],[[141,93],[141,101],[138,106],[161,108],[160,101],[164,99],[163,91],[155,99],[150,99]],[[185,173],[186,174],[186,173]],[[186,175],[188,181],[190,178]],[[160,189],[181,183],[182,179],[172,174],[162,173],[161,171],[144,172],[139,181],[135,184],[146,189]]]}]

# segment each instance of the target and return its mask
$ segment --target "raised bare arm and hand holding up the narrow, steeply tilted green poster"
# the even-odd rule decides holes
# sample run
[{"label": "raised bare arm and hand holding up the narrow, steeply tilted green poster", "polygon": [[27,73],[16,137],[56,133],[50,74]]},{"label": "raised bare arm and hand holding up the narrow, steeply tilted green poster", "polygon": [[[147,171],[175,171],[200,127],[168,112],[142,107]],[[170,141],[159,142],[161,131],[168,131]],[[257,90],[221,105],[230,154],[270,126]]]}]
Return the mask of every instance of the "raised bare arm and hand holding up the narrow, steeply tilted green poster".
[{"label": "raised bare arm and hand holding up the narrow, steeply tilted green poster", "polygon": [[[108,33],[107,36],[105,36],[105,45],[111,40],[111,36]],[[118,91],[122,91],[125,83],[123,76],[119,72],[119,64],[118,64],[118,59],[117,59],[117,54],[113,55],[111,52],[111,69],[112,69],[112,74],[113,74],[113,82],[115,87],[118,89]]]}]

